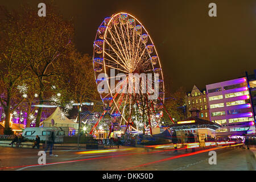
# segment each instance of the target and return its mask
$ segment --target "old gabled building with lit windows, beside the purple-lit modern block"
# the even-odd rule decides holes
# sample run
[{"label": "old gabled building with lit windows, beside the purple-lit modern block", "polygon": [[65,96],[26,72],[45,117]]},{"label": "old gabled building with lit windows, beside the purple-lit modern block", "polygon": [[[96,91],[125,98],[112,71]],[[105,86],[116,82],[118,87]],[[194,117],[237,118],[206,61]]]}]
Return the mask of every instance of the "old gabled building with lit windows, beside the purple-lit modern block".
[{"label": "old gabled building with lit windows, beside the purple-lit modern block", "polygon": [[210,121],[209,108],[206,90],[199,90],[196,85],[191,92],[185,96],[185,105],[187,106],[187,117],[191,117],[191,110],[199,110],[199,118]]}]

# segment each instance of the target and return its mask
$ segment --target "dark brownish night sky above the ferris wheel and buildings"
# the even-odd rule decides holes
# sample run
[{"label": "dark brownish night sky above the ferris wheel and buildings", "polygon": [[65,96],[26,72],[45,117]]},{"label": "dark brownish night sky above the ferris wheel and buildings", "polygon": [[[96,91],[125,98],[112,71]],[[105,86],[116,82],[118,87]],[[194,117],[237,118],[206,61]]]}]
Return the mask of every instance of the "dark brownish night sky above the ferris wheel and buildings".
[{"label": "dark brownish night sky above the ferris wheel and buildings", "polygon": [[[21,1],[1,5],[18,7]],[[28,2],[38,10],[43,0]],[[256,69],[256,1],[70,1],[56,0],[60,13],[75,21],[75,43],[93,53],[97,27],[106,16],[127,12],[139,19],[153,39],[172,89],[225,81]],[[217,4],[217,17],[208,16],[208,5]]]}]

